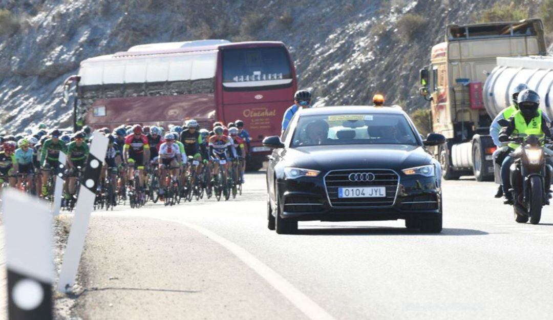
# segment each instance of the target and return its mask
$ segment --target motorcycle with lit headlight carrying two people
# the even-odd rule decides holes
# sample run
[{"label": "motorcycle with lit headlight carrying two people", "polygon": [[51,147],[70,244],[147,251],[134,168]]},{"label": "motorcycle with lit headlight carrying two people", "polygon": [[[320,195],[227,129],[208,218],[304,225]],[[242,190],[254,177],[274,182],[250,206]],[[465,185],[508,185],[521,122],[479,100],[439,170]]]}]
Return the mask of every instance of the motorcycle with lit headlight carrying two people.
[{"label": "motorcycle with lit headlight carrying two people", "polygon": [[515,221],[538,224],[542,207],[549,204],[550,183],[545,181],[551,181],[553,168],[546,158],[553,156],[553,151],[542,146],[536,135],[511,141],[520,145],[510,154],[514,161],[509,168]]}]

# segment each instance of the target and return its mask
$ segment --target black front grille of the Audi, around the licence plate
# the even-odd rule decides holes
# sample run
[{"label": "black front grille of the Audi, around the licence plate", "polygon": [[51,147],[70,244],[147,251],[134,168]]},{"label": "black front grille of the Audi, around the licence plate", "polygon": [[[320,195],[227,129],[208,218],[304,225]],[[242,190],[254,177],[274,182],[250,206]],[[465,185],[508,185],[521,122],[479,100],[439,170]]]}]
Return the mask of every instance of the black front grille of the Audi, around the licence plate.
[{"label": "black front grille of the Audi, around the licence plate", "polygon": [[[373,181],[350,181],[350,174],[373,174]],[[398,191],[399,175],[388,169],[353,169],[330,171],[325,176],[326,193],[332,207],[391,207]],[[380,198],[338,198],[340,187],[386,187],[386,196]]]}]

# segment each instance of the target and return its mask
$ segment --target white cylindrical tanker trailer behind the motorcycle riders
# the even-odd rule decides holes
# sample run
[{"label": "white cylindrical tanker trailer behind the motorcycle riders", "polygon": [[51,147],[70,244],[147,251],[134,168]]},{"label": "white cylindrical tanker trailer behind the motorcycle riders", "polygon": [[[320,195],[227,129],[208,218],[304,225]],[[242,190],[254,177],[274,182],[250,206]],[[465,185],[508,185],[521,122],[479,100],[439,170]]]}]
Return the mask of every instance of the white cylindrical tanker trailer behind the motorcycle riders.
[{"label": "white cylindrical tanker trailer behind the motorcycle riders", "polygon": [[498,57],[483,87],[488,114],[494,118],[510,106],[509,93],[519,83],[538,92],[540,108],[553,120],[553,56]]}]

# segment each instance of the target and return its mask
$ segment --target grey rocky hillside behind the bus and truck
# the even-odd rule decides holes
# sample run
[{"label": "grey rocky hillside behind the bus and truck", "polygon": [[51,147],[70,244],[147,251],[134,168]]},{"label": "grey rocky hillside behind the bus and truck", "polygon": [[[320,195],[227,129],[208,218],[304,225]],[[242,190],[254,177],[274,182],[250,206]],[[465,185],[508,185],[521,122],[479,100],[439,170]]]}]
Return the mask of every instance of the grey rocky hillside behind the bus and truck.
[{"label": "grey rocky hillside behind the bus and truck", "polygon": [[[539,16],[544,1],[515,2]],[[61,83],[87,57],[208,38],[284,41],[300,87],[311,88],[317,104],[367,104],[378,91],[413,110],[425,106],[416,95],[418,70],[444,26],[473,22],[504,2],[0,0],[0,125],[69,126]]]}]

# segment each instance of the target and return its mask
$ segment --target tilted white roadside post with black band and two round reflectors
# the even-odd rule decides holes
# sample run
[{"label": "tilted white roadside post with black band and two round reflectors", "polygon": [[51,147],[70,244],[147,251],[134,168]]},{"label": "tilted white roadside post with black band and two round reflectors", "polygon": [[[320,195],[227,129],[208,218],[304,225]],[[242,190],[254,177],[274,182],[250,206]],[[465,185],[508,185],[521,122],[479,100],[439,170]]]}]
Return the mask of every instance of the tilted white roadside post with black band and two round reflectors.
[{"label": "tilted white roadside post with black band and two round reflectors", "polygon": [[75,217],[71,224],[69,239],[61,265],[59,292],[70,292],[75,283],[75,276],[79,269],[79,261],[83,246],[85,245],[86,230],[92,212],[92,206],[96,198],[96,186],[100,180],[102,164],[106,158],[108,139],[105,135],[95,131],[92,135],[90,154],[86,160],[85,172],[79,190],[79,198],[75,206]]}]

